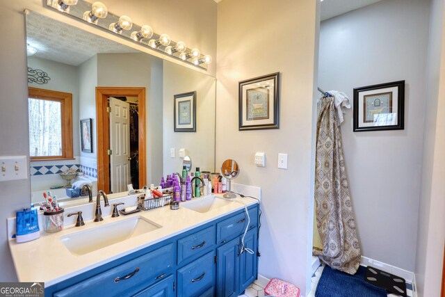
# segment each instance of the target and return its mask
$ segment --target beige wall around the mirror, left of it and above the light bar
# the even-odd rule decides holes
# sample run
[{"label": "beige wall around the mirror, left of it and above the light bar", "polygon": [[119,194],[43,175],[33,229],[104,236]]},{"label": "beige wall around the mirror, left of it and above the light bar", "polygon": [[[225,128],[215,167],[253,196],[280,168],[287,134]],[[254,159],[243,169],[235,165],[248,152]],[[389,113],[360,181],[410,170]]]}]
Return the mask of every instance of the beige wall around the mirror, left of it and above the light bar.
[{"label": "beige wall around the mirror, left of it and above the light bar", "polygon": [[[29,154],[24,8],[99,35],[110,35],[44,8],[42,3],[41,0],[0,3],[0,25],[8,28],[0,33],[0,69],[3,70],[0,74],[0,156]],[[156,33],[168,33],[173,40],[182,39],[187,42],[188,47],[198,47],[203,53],[216,57],[216,3],[213,1],[153,0],[147,3],[142,0],[107,0],[104,3],[112,13],[129,15],[136,24],[150,22]],[[184,13],[185,11],[188,13]],[[108,38],[137,47],[133,42],[124,42],[122,38]],[[211,67],[213,69],[209,69],[209,73],[214,75],[216,65]],[[15,216],[17,209],[29,206],[29,189],[29,179],[0,182],[0,281],[3,282],[16,278],[6,241],[6,218]]]}]

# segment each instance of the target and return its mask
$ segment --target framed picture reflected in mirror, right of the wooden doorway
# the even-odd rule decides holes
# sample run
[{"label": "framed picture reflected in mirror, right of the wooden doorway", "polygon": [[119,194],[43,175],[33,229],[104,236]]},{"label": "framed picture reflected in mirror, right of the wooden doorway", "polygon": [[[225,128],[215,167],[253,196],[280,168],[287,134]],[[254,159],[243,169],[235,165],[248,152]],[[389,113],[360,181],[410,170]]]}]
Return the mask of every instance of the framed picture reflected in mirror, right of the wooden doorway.
[{"label": "framed picture reflected in mirror, right of the wooden doorway", "polygon": [[175,95],[175,132],[196,132],[196,91]]}]

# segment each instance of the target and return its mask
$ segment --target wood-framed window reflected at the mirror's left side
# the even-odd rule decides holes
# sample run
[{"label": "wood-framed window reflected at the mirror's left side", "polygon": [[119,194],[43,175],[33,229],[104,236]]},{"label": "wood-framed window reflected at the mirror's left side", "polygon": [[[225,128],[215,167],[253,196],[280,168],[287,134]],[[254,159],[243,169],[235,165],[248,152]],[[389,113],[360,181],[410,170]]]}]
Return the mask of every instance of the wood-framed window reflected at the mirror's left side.
[{"label": "wood-framed window reflected at the mirror's left side", "polygon": [[72,95],[28,88],[31,160],[73,159]]}]

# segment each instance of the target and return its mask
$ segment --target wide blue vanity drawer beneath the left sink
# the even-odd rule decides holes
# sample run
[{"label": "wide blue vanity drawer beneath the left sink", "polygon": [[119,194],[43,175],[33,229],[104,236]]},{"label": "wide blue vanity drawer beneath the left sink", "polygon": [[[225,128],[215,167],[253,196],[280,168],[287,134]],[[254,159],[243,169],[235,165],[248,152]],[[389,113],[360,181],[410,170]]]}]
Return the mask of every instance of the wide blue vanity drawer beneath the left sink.
[{"label": "wide blue vanity drawer beneath the left sink", "polygon": [[58,291],[56,297],[63,296],[122,296],[130,294],[140,285],[145,287],[163,280],[172,273],[175,265],[173,243],[148,252],[127,263],[111,268],[88,280]]}]

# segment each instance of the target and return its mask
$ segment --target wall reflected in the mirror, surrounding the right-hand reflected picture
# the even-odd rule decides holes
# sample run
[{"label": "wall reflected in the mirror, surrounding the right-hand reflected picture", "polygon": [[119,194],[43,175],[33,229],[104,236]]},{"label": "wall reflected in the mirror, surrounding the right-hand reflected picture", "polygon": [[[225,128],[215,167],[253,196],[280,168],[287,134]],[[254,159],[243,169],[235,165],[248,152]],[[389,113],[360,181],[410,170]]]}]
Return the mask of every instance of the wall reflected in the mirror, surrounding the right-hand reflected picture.
[{"label": "wall reflected in the mirror, surrounding the right-hand reflected picture", "polygon": [[[196,132],[175,132],[173,98],[177,94],[196,91]],[[216,79],[179,65],[163,63],[163,172],[181,172],[179,149],[185,148],[192,159],[192,171],[214,171],[215,163]],[[170,158],[174,147],[176,157]]]}]

